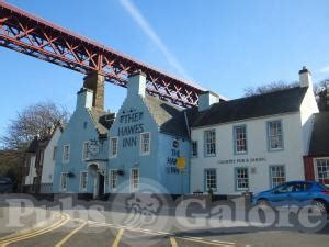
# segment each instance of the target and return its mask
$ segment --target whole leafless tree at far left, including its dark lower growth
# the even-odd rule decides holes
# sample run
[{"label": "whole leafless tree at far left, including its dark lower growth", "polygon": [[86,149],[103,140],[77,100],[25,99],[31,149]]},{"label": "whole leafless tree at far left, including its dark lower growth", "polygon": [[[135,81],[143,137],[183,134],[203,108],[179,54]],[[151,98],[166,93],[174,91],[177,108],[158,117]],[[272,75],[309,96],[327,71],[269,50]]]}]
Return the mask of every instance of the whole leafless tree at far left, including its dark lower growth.
[{"label": "whole leafless tree at far left, including its dark lower growth", "polygon": [[58,122],[67,123],[69,112],[53,102],[39,102],[18,112],[11,120],[0,142],[0,176],[21,184],[24,173],[25,151],[35,136],[45,138]]}]

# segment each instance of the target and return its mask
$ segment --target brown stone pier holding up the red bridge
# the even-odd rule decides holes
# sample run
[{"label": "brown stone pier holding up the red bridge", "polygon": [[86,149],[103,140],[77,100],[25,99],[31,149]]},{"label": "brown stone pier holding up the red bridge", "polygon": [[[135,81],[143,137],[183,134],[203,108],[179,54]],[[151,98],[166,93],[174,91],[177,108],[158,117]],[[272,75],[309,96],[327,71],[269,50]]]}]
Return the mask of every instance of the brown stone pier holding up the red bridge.
[{"label": "brown stone pier holding up the red bridge", "polygon": [[92,71],[83,78],[83,88],[93,92],[92,106],[103,111],[105,77],[97,71]]}]

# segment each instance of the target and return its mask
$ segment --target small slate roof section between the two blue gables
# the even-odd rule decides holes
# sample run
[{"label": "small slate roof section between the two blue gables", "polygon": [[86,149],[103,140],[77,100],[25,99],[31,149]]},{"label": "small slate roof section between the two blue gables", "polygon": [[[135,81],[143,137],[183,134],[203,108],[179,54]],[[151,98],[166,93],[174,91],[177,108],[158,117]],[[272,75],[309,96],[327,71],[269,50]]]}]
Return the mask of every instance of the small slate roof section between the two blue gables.
[{"label": "small slate roof section between the two blue gables", "polygon": [[105,135],[114,122],[115,114],[92,108],[88,109],[92,122],[101,135]]}]

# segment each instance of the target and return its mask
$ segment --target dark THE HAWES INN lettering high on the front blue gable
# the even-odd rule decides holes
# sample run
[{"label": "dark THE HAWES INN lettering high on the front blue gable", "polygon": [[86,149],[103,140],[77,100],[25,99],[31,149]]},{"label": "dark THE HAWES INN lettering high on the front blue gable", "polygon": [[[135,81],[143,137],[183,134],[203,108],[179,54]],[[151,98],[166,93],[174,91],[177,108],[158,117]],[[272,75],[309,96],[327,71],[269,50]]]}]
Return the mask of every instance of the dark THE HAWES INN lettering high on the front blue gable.
[{"label": "dark THE HAWES INN lettering high on the front blue gable", "polygon": [[123,147],[134,147],[137,145],[138,135],[144,132],[143,112],[131,109],[123,111],[120,116],[120,123],[123,125],[117,128],[117,136],[122,136]]}]

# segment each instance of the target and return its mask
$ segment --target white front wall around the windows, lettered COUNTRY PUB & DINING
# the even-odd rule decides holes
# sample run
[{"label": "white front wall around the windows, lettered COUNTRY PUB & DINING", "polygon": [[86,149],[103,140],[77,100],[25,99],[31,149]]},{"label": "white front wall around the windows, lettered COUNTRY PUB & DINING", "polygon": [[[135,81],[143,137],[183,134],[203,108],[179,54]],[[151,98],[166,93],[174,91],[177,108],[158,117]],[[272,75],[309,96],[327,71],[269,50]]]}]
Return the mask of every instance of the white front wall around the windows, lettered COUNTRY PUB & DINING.
[{"label": "white front wall around the windows, lettered COUNTRY PUB & DINING", "polygon": [[[282,121],[284,149],[280,151],[268,150],[268,121]],[[248,154],[234,154],[234,126],[247,125]],[[204,157],[204,131],[216,130],[216,157]],[[204,191],[204,169],[216,168],[218,194],[237,194],[235,186],[235,167],[249,168],[249,188],[252,192],[259,192],[270,188],[270,166],[284,165],[286,180],[304,179],[303,165],[303,134],[300,114],[281,114],[269,117],[220,124],[192,130],[192,141],[197,141],[198,157],[191,159],[191,192]],[[245,164],[218,164],[228,159],[265,158],[265,161]],[[256,168],[251,173],[250,168]]]}]

